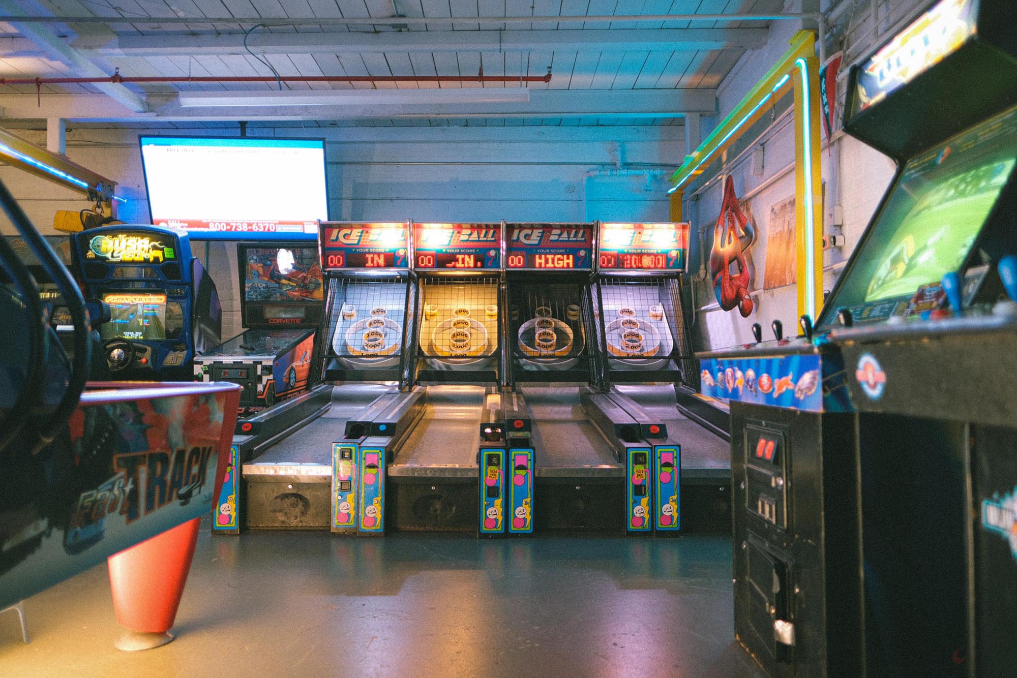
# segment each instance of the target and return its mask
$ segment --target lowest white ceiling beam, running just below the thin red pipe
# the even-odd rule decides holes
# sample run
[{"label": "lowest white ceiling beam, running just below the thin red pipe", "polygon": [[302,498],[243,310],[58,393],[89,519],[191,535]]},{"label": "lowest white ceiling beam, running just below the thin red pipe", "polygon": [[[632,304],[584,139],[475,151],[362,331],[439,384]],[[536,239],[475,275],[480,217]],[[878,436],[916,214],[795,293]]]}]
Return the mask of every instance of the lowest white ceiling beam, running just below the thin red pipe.
[{"label": "lowest white ceiling beam, running just below the thin red pipe", "polygon": [[[407,89],[407,91],[413,91]],[[358,104],[274,108],[183,108],[176,95],[149,95],[151,113],[131,111],[100,95],[0,96],[4,117],[78,122],[178,120],[339,120],[354,118],[680,118],[716,112],[716,89],[533,89],[528,103]],[[3,118],[0,118],[0,126]]]}]

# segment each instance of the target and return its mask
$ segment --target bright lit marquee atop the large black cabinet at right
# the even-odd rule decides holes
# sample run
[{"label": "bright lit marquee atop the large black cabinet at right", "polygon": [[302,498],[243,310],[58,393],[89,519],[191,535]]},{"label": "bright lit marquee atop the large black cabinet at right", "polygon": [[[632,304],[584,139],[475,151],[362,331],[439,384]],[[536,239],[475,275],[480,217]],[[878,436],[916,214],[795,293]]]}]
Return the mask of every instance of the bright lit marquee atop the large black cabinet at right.
[{"label": "bright lit marquee atop the large black cabinet at right", "polygon": [[943,0],[861,64],[852,114],[883,101],[897,87],[957,51],[975,32],[975,2]]}]

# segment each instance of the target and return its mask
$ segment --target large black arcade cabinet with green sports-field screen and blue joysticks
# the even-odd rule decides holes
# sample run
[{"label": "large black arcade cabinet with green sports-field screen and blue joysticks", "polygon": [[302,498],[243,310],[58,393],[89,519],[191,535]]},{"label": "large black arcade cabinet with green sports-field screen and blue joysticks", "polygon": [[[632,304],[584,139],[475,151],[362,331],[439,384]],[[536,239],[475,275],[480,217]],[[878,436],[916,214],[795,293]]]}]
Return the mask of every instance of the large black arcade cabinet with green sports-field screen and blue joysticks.
[{"label": "large black arcade cabinet with green sports-field screen and blue joysticks", "polygon": [[1017,662],[1015,22],[943,0],[852,67],[844,130],[889,189],[815,328],[702,354],[731,403],[735,632],[771,675]]}]

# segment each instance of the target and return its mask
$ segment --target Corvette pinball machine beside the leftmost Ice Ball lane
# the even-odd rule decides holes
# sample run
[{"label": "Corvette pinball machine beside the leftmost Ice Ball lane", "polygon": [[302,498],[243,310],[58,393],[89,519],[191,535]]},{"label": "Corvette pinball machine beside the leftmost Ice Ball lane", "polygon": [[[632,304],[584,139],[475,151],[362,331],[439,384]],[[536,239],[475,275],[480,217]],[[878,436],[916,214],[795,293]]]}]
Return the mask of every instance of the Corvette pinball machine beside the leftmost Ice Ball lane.
[{"label": "Corvette pinball machine beside the leftmost Ice Ball lane", "polygon": [[324,292],[317,246],[237,246],[245,331],[194,359],[196,381],[231,381],[243,390],[242,415],[305,392]]}]

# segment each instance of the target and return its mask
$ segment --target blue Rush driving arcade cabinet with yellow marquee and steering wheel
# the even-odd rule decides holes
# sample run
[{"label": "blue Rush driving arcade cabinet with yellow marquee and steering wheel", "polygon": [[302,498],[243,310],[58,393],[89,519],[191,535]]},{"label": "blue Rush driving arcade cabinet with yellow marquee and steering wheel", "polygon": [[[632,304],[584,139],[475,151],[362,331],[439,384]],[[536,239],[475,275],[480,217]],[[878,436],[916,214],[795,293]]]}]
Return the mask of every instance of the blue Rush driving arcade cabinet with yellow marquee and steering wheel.
[{"label": "blue Rush driving arcade cabinet with yellow marquee and steering wheel", "polygon": [[100,326],[114,379],[193,379],[194,356],[220,342],[222,308],[186,232],[118,225],[73,236],[85,296],[110,306]]}]

